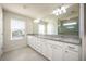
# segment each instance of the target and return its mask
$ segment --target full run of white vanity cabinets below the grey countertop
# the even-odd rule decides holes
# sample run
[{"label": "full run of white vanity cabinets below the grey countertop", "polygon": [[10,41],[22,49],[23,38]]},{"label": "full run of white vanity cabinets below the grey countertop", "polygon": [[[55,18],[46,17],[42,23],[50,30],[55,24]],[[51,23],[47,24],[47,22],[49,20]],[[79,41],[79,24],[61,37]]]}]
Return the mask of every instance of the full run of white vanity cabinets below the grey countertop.
[{"label": "full run of white vanity cabinets below the grey countertop", "polygon": [[28,44],[52,61],[77,61],[79,46],[28,36]]}]

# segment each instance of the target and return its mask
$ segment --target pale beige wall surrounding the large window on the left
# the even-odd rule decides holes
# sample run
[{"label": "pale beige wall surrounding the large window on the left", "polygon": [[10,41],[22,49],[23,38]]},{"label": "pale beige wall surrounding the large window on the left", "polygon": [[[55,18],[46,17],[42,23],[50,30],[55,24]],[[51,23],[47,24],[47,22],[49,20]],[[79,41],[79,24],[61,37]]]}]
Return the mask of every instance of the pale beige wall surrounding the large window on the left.
[{"label": "pale beige wall surrounding the large window on the left", "polygon": [[26,36],[21,40],[11,40],[11,17],[16,17],[26,22],[26,34],[33,34],[33,18],[26,17],[20,14],[15,14],[9,11],[3,12],[3,21],[4,21],[4,43],[3,43],[3,51],[11,51],[17,48],[22,48],[26,46]]}]

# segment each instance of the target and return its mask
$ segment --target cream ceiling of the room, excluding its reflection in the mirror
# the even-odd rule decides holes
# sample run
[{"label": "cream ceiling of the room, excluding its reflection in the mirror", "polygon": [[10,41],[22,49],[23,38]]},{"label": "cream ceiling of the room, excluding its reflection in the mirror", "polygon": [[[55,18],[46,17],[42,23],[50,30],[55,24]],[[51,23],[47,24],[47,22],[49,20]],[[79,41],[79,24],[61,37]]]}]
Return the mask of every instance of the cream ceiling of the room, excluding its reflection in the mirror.
[{"label": "cream ceiling of the room, excluding its reflection in the mirror", "polygon": [[4,10],[23,14],[33,18],[41,18],[52,12],[53,9],[60,7],[57,3],[3,3]]}]

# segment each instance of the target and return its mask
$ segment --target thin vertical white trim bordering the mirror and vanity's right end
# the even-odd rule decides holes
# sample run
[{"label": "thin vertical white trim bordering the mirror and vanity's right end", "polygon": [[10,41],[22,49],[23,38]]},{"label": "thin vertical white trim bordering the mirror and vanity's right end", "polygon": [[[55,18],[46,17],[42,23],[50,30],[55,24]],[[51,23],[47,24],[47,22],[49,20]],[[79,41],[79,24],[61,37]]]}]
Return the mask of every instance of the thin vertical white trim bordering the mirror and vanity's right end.
[{"label": "thin vertical white trim bordering the mirror and vanity's right end", "polygon": [[82,40],[82,60],[84,60],[84,4],[79,4],[79,38]]}]

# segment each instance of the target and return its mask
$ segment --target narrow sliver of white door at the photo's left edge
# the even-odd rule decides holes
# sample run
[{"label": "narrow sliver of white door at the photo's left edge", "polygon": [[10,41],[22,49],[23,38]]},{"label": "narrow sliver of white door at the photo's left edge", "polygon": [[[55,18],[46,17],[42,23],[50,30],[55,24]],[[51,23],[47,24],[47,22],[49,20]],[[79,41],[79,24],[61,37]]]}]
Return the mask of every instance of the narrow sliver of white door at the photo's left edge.
[{"label": "narrow sliver of white door at the photo's left edge", "polygon": [[0,7],[0,56],[2,54],[2,44],[3,44],[3,24],[2,24],[2,9]]}]

